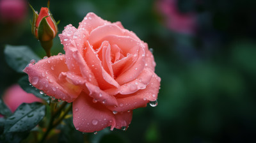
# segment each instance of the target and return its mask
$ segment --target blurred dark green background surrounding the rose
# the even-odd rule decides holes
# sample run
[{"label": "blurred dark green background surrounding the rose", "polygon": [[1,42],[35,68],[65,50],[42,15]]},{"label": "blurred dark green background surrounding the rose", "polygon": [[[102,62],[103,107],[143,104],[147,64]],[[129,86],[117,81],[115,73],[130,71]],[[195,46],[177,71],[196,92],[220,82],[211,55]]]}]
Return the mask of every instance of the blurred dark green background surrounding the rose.
[{"label": "blurred dark green background surrounding the rose", "polygon": [[[47,6],[46,0],[29,3],[38,11]],[[162,79],[157,107],[134,110],[127,131],[88,135],[74,130],[70,140],[82,142],[81,136],[88,135],[92,142],[255,142],[256,1],[179,0],[172,19],[159,3],[164,1],[51,0],[51,13],[60,20],[59,33],[68,24],[77,27],[90,11],[122,22],[154,50],[156,73]],[[168,20],[172,24],[191,18],[184,15],[193,15],[192,31],[168,26]],[[1,24],[1,95],[22,77],[6,64],[4,45],[28,45],[45,56],[31,34],[32,16],[28,9],[24,22]],[[6,34],[7,29],[12,33]],[[59,52],[64,50],[56,36],[52,54]]]}]

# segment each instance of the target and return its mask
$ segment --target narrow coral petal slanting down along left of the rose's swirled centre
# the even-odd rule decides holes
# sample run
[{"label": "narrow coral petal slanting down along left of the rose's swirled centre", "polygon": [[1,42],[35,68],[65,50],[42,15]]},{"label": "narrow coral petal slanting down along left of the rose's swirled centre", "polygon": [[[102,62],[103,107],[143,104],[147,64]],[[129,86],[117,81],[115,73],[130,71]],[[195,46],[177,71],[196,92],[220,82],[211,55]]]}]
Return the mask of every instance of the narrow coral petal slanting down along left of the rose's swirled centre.
[{"label": "narrow coral petal slanting down along left of the rose's swirled centre", "polygon": [[119,87],[119,84],[113,79],[105,70],[102,68],[100,59],[93,52],[92,47],[88,43],[86,45],[87,51],[85,53],[84,59],[88,64],[89,68],[95,75],[95,79],[99,84],[100,89],[108,89],[111,87]]}]

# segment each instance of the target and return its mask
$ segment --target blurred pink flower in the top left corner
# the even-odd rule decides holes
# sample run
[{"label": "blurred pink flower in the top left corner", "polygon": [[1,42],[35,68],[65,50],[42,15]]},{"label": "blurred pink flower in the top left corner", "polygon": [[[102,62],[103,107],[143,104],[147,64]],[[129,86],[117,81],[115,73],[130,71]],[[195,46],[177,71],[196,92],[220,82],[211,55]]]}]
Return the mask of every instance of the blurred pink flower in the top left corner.
[{"label": "blurred pink flower in the top left corner", "polygon": [[0,21],[4,23],[19,23],[27,14],[26,0],[0,0]]}]

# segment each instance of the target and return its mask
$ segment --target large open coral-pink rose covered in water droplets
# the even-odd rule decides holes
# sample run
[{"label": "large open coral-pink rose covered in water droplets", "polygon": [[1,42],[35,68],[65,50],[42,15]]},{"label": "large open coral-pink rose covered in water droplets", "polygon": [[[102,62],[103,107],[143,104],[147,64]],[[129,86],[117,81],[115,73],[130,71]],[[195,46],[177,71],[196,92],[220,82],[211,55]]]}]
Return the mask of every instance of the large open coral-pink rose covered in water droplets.
[{"label": "large open coral-pink rose covered in water droplets", "polygon": [[73,102],[77,130],[124,129],[133,109],[157,100],[161,79],[154,57],[120,22],[88,13],[77,29],[70,24],[59,36],[65,55],[31,63],[24,72],[44,93]]}]

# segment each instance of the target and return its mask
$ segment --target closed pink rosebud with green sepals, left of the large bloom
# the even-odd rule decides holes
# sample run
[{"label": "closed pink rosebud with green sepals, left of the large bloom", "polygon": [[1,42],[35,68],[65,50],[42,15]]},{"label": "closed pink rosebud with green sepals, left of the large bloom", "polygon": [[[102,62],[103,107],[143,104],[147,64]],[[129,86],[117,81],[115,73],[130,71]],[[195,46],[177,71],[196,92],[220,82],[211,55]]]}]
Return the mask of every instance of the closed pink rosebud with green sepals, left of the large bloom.
[{"label": "closed pink rosebud with green sepals, left of the large bloom", "polygon": [[44,48],[47,56],[51,56],[52,40],[58,33],[58,26],[53,19],[51,11],[48,8],[42,7],[38,15],[37,11],[33,9],[33,22],[32,22],[32,34],[35,35]]}]

